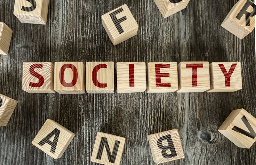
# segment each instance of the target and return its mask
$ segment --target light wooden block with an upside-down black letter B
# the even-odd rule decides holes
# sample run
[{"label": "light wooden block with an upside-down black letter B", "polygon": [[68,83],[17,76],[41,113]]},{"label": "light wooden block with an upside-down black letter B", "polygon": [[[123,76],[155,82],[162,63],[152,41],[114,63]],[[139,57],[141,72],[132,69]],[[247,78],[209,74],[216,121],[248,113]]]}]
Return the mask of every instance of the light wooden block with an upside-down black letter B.
[{"label": "light wooden block with an upside-down black letter B", "polygon": [[178,129],[148,135],[156,164],[185,158]]}]

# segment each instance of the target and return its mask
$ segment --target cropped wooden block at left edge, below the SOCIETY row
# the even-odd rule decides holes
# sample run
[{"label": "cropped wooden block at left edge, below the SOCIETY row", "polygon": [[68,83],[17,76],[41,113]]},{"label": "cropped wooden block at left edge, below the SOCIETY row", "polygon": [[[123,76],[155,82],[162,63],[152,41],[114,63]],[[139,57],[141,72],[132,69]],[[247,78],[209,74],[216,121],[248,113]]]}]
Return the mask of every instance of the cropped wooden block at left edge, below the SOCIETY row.
[{"label": "cropped wooden block at left edge, below the SOCIETY row", "polygon": [[0,126],[6,126],[18,101],[0,94]]}]

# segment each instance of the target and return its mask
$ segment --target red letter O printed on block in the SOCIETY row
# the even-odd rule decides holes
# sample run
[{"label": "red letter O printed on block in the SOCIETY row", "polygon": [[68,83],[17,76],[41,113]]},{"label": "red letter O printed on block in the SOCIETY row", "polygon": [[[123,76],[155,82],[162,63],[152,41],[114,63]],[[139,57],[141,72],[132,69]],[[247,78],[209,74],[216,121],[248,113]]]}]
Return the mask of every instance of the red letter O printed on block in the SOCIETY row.
[{"label": "red letter O printed on block in the SOCIETY row", "polygon": [[[73,71],[73,79],[71,83],[67,83],[64,79],[64,72],[67,68],[71,68]],[[77,77],[78,77],[78,73],[77,73],[77,69],[76,66],[73,64],[64,64],[61,68],[60,68],[60,83],[61,85],[63,85],[64,87],[73,87],[74,85],[76,85],[77,82]]]}]

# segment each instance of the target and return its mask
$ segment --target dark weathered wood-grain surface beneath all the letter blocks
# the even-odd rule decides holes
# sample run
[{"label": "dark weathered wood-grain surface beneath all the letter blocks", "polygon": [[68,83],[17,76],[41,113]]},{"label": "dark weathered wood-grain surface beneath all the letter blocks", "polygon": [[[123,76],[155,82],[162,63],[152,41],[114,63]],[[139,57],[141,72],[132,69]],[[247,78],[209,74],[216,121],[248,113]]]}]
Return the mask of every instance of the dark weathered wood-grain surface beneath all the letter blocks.
[{"label": "dark weathered wood-grain surface beneath all the letter blocks", "polygon": [[[139,24],[136,37],[113,46],[101,15],[127,4]],[[0,55],[0,93],[19,101],[0,126],[0,164],[95,164],[97,132],[126,138],[121,164],[154,164],[148,134],[178,128],[186,158],[168,164],[256,164],[256,144],[236,147],[217,129],[235,109],[256,116],[255,33],[240,40],[220,24],[236,0],[191,0],[164,19],[153,0],[50,0],[47,25],[22,24],[14,0],[0,1],[0,21],[13,36]],[[233,93],[29,94],[22,62],[241,61],[243,89]],[[116,78],[115,78],[116,81]],[[116,84],[115,84],[116,86]],[[54,160],[31,142],[46,119],[75,138]]]}]

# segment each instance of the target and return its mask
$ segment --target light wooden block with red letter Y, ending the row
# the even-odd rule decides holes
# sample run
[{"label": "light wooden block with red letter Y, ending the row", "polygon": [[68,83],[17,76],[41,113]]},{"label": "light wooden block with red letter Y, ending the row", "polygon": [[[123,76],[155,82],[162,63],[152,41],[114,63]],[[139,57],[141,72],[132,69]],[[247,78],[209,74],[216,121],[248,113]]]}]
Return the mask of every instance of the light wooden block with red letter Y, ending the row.
[{"label": "light wooden block with red letter Y, ending the row", "polygon": [[210,75],[211,89],[207,92],[234,92],[243,88],[240,62],[212,62]]}]

